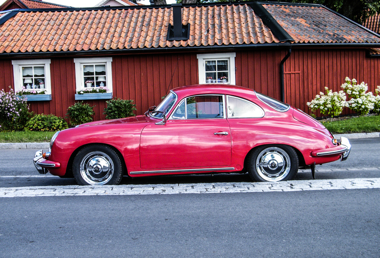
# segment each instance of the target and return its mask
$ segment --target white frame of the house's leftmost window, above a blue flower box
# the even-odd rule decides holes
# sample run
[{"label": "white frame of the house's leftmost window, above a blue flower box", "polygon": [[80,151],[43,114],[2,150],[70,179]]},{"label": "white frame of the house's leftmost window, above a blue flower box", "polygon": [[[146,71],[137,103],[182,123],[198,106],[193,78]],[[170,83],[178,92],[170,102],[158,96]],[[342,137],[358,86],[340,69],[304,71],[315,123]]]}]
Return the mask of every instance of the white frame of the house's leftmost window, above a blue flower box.
[{"label": "white frame of the house's leftmost window, above a blue flower box", "polygon": [[50,76],[50,59],[33,59],[33,60],[12,60],[13,78],[15,82],[15,92],[23,89],[23,66],[44,66],[45,68],[45,89],[26,89],[28,91],[42,91],[45,94],[51,94],[51,76]]}]

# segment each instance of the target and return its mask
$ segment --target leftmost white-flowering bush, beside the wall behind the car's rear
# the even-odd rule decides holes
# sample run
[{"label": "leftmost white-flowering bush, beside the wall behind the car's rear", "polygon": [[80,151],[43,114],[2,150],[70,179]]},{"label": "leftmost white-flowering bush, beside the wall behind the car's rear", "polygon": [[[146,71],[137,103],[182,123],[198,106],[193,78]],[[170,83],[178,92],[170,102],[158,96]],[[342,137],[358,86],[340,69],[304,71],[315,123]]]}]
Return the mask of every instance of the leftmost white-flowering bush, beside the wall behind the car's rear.
[{"label": "leftmost white-flowering bush, beside the wall behind the car's rear", "polygon": [[312,112],[320,110],[322,115],[336,116],[342,113],[344,107],[347,107],[346,94],[341,90],[332,92],[328,87],[325,87],[326,94],[319,92],[311,102],[307,102]]}]

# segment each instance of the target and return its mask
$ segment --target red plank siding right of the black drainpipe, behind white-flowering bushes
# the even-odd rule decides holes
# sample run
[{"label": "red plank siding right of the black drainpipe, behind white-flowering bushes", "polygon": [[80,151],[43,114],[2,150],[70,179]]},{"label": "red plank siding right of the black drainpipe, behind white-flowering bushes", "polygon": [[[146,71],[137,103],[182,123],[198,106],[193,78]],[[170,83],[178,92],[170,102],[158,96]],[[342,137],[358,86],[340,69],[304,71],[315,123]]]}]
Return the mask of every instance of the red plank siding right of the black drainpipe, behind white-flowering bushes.
[{"label": "red plank siding right of the black drainpipe, behind white-flowering bushes", "polygon": [[[368,84],[375,93],[380,85],[379,58],[366,57],[365,50],[302,50],[293,49],[284,65],[285,102],[306,113],[306,105],[325,86],[340,91],[344,79],[355,78]],[[348,109],[345,110],[345,113]]]}]

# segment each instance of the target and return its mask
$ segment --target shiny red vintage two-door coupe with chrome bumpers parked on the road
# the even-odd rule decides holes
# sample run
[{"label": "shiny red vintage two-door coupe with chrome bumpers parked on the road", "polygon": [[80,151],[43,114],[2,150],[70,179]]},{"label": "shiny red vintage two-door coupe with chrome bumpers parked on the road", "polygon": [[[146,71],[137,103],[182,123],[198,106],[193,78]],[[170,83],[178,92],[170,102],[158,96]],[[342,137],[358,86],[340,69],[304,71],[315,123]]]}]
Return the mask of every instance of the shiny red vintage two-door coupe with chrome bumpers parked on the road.
[{"label": "shiny red vintage two-door coupe with chrome bumpers parked on the road", "polygon": [[145,115],[57,132],[36,152],[40,173],[81,185],[119,184],[124,175],[248,172],[256,181],[290,180],[298,169],[347,159],[351,145],[317,120],[240,86],[170,91]]}]

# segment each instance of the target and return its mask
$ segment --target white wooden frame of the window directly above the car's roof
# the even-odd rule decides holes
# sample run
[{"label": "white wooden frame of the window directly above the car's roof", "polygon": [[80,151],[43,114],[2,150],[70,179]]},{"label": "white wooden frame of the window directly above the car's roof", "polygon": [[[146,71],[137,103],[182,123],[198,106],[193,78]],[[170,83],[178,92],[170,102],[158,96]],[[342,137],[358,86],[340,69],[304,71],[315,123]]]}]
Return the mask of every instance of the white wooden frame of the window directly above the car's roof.
[{"label": "white wooden frame of the window directly above the car's roof", "polygon": [[[236,73],[235,73],[235,57],[236,53],[218,53],[218,54],[198,54],[198,71],[199,71],[199,83],[207,84],[206,82],[206,71],[205,71],[205,61],[207,60],[221,60],[228,59],[228,83],[217,83],[217,84],[236,84]],[[208,83],[210,84],[210,83]],[[212,83],[211,83],[212,84]]]}]

